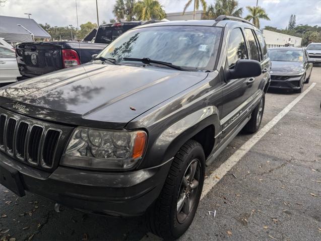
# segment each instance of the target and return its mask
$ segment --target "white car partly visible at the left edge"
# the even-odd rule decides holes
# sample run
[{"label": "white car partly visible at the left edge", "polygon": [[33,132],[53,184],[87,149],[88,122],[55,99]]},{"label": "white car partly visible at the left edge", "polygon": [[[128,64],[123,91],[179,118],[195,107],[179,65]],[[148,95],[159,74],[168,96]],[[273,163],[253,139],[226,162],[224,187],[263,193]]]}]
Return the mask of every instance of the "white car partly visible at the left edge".
[{"label": "white car partly visible at the left edge", "polygon": [[0,87],[16,82],[17,76],[21,75],[15,50],[0,45]]}]

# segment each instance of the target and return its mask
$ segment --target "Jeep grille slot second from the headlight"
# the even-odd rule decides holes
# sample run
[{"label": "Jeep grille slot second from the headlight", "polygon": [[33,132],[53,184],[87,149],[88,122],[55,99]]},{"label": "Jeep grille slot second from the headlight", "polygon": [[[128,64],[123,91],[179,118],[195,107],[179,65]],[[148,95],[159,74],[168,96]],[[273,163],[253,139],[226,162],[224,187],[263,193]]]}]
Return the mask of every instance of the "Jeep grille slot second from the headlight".
[{"label": "Jeep grille slot second from the headlight", "polygon": [[28,162],[32,164],[38,164],[39,147],[43,133],[43,127],[34,125],[30,131],[28,140]]}]

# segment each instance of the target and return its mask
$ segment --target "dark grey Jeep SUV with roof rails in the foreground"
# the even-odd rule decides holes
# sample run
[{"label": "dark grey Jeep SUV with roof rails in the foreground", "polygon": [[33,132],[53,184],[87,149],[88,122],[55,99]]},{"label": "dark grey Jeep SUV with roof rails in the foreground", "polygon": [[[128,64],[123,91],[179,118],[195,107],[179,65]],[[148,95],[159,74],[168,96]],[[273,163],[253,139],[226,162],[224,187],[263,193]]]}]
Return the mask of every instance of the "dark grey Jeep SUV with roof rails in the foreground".
[{"label": "dark grey Jeep SUV with roof rails in the foreground", "polygon": [[177,238],[205,166],[259,129],[269,82],[263,36],[245,20],[141,25],[90,63],[0,89],[1,183],[85,212],[146,213]]}]

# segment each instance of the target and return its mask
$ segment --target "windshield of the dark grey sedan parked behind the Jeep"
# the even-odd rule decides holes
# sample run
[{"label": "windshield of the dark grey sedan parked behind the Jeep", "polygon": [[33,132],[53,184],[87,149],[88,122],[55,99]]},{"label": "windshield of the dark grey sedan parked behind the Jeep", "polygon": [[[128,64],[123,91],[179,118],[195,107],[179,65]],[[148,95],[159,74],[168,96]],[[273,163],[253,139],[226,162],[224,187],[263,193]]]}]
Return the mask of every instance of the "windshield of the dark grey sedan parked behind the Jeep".
[{"label": "windshield of the dark grey sedan parked behind the Jeep", "polygon": [[269,50],[269,57],[272,61],[303,62],[302,50]]}]

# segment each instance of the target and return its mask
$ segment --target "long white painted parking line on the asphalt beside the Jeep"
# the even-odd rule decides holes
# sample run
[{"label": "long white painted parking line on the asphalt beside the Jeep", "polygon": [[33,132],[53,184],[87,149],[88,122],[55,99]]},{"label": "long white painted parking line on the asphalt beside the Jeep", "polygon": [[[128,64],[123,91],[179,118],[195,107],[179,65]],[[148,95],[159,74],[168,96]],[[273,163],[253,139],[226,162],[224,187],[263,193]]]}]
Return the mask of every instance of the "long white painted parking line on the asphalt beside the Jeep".
[{"label": "long white painted parking line on the asphalt beside the Jeep", "polygon": [[[239,149],[237,149],[218,169],[216,169],[208,178],[204,181],[203,192],[201,200],[211,191],[211,189],[224,177],[228,171],[230,171],[235,164],[256,144],[273,126],[275,126],[292,108],[297,104],[316,83],[306,89],[297,98],[295,98],[289,105],[287,105],[277,116],[275,116],[268,124],[266,124],[261,130],[254,134],[249,140],[247,140]],[[218,178],[219,179],[218,179]]]}]

